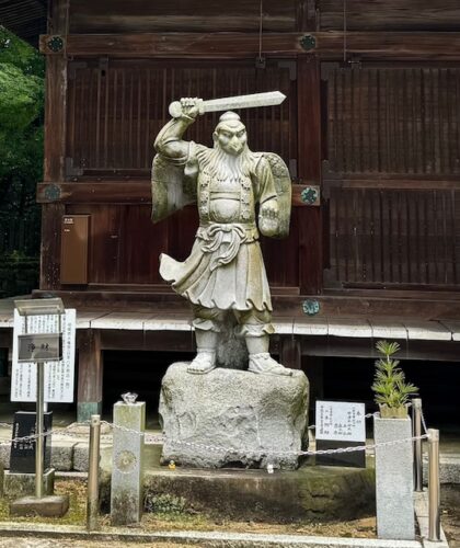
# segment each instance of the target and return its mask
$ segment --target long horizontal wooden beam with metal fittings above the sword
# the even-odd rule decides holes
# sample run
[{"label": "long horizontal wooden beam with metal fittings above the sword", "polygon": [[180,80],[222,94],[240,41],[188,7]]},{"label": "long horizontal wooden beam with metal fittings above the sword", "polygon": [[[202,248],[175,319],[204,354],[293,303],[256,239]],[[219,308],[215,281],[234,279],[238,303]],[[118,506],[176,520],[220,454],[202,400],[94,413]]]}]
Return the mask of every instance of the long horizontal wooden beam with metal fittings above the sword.
[{"label": "long horizontal wooden beam with metal fittings above the sword", "polygon": [[[301,21],[303,21],[303,15]],[[300,23],[312,24],[311,18]],[[58,34],[58,33],[55,33]],[[65,34],[65,33],[61,33]],[[311,36],[307,49],[302,38]],[[53,35],[42,35],[41,52],[59,55],[49,47]],[[296,32],[264,34],[264,55],[295,56],[314,53],[321,59],[342,59],[344,33]],[[254,57],[258,53],[257,33],[139,33],[139,34],[70,34],[65,48],[72,56],[114,57]],[[363,59],[460,60],[458,32],[347,32],[347,55]]]}]

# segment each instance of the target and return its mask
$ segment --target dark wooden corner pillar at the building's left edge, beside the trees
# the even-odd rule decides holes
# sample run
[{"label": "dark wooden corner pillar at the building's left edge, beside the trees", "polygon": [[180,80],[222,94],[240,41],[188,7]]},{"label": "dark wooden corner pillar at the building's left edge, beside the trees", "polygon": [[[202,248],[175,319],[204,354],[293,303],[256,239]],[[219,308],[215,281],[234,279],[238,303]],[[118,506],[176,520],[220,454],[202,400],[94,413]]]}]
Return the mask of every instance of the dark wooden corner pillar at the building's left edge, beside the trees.
[{"label": "dark wooden corner pillar at the building's left edge, beside the trees", "polygon": [[[69,0],[53,0],[48,12],[48,33],[59,35],[66,41],[68,18]],[[48,55],[46,58],[45,182],[65,180],[66,118],[67,57],[64,45],[60,53]],[[60,286],[60,226],[64,214],[64,204],[42,206],[41,289],[58,289]]]}]

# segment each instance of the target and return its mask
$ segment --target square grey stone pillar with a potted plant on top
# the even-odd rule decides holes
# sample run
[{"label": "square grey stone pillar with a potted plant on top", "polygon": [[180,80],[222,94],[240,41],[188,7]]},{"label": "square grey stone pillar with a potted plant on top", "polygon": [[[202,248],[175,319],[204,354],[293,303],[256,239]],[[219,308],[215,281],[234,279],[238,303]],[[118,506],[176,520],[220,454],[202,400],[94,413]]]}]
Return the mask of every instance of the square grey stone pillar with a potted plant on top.
[{"label": "square grey stone pillar with a potted plant on top", "polygon": [[[411,420],[373,420],[376,444],[411,438]],[[414,478],[412,442],[376,447],[377,535],[393,540],[413,540]]]}]

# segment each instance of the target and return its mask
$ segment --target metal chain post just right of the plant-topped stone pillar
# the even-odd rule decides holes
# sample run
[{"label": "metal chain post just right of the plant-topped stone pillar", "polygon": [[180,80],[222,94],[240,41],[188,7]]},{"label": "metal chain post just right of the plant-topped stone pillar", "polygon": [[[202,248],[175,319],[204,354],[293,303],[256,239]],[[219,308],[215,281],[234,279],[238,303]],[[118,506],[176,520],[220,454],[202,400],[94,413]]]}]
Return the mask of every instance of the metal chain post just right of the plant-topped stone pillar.
[{"label": "metal chain post just right of the plant-topped stone pillar", "polygon": [[440,541],[439,430],[428,429],[428,540]]}]

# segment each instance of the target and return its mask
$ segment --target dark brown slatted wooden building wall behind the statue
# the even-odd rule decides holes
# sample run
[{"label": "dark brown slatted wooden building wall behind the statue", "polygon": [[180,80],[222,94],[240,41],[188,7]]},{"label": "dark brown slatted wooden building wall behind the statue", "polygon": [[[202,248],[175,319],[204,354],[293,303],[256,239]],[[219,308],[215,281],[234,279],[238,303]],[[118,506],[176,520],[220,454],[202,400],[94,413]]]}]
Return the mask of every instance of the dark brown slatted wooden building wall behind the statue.
[{"label": "dark brown slatted wooden building wall behind the statue", "polygon": [[[158,255],[185,259],[197,226],[193,207],[150,222],[152,141],[168,104],[275,89],[288,98],[281,106],[241,114],[250,147],[279,153],[296,183],[289,238],[263,240],[278,294],[458,289],[460,4],[262,8],[261,42],[260,2],[53,2],[49,32],[65,47],[42,39],[43,289],[61,288],[59,219],[74,213],[91,215],[89,289],[164,292]],[[210,145],[217,116],[186,137]],[[320,190],[314,205],[301,198],[309,186]]]}]

